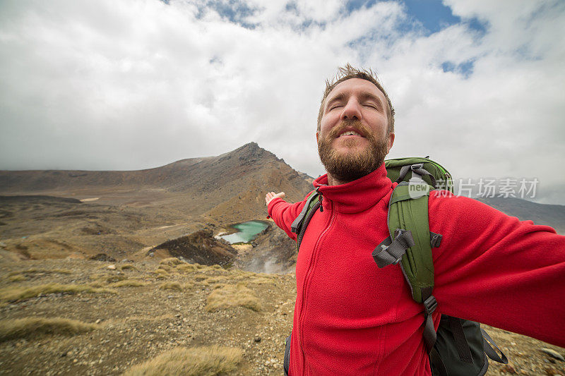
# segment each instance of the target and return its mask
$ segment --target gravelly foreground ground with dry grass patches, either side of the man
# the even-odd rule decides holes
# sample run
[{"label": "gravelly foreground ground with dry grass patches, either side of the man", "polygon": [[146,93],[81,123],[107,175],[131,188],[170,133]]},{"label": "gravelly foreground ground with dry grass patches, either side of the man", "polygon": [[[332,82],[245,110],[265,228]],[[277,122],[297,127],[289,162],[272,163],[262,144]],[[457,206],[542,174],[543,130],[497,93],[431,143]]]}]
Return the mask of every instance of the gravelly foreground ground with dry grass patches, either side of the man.
[{"label": "gravelly foreground ground with dry grass patches, either side of the man", "polygon": [[[62,317],[96,325],[73,336],[37,332],[6,338],[0,333],[2,375],[119,375],[173,348],[204,345],[243,351],[230,374],[282,374],[296,293],[292,274],[153,257],[143,262],[4,260],[0,279],[1,322]],[[26,298],[22,289],[32,286],[59,286],[59,292],[35,291]],[[78,293],[72,286],[106,292]],[[214,293],[219,300],[212,299]],[[488,375],[565,375],[565,362],[554,357],[564,356],[563,348],[487,330],[511,359],[510,365],[491,363]],[[542,348],[552,349],[554,356]]]}]

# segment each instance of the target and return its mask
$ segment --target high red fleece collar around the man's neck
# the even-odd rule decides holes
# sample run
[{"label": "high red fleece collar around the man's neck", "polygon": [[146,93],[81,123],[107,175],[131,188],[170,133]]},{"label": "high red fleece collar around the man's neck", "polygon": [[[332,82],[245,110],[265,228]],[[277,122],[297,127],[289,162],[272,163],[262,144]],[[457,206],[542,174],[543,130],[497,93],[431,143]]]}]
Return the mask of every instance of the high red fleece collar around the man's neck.
[{"label": "high red fleece collar around the man's neck", "polygon": [[333,202],[334,209],[343,213],[363,212],[390,195],[393,188],[391,179],[386,177],[384,163],[371,174],[339,186],[328,186],[327,174],[317,178],[313,184],[323,196],[324,209],[329,209]]}]

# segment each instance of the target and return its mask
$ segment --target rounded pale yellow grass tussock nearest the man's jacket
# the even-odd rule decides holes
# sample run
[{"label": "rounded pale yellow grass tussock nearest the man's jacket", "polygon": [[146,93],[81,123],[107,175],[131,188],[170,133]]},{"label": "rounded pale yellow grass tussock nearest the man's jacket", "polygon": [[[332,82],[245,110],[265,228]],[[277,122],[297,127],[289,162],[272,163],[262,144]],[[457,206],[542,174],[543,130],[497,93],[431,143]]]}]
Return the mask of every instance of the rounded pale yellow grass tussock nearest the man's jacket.
[{"label": "rounded pale yellow grass tussock nearest the man's jacket", "polygon": [[253,291],[249,290],[243,284],[227,285],[220,289],[215,289],[210,293],[206,300],[206,310],[213,312],[222,308],[245,307],[250,310],[260,311],[261,303]]}]

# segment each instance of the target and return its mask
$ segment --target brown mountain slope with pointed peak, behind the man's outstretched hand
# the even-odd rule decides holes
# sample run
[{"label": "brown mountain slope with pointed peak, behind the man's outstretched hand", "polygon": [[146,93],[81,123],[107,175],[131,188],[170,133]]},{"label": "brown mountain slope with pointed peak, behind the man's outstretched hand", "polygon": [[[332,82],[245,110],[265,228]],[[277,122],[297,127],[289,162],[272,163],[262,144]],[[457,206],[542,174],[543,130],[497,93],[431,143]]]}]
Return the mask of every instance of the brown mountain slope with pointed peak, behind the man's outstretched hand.
[{"label": "brown mountain slope with pointed peak, behind the man's outstretched hand", "polygon": [[97,204],[166,207],[222,224],[263,217],[267,190],[302,200],[311,185],[251,142],[218,157],[183,159],[139,171],[0,171],[0,195],[50,195]]}]

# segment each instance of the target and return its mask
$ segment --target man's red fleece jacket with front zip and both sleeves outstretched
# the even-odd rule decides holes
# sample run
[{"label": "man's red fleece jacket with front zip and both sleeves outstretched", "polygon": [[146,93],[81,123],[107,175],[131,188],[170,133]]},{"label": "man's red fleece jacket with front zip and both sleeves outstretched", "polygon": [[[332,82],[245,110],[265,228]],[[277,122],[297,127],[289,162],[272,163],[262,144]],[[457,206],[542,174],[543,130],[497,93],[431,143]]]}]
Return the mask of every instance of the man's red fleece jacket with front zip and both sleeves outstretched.
[{"label": "man's red fleece jacket with front zip and both sleeves outstretched", "polygon": [[[290,375],[430,375],[424,316],[400,267],[376,266],[371,253],[388,236],[396,183],[384,164],[351,183],[327,186],[296,265],[297,299]],[[445,191],[443,191],[446,193]],[[304,201],[280,198],[270,217],[290,238]],[[456,195],[429,198],[429,229],[441,313],[565,346],[565,236]]]}]

